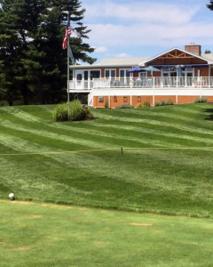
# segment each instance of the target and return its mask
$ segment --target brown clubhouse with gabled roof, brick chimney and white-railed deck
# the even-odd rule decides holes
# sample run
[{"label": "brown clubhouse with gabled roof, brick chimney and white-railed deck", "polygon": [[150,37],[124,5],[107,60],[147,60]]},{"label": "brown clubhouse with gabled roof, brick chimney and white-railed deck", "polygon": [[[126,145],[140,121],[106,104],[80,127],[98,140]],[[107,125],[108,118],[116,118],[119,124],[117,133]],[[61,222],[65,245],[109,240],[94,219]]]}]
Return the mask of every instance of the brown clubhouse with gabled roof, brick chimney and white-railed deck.
[{"label": "brown clubhouse with gabled roof, brick chimney and white-railed deck", "polygon": [[114,109],[149,101],[190,103],[205,97],[213,101],[213,54],[201,54],[201,45],[172,48],[153,58],[105,59],[94,65],[71,65],[70,93],[87,93],[88,103]]}]

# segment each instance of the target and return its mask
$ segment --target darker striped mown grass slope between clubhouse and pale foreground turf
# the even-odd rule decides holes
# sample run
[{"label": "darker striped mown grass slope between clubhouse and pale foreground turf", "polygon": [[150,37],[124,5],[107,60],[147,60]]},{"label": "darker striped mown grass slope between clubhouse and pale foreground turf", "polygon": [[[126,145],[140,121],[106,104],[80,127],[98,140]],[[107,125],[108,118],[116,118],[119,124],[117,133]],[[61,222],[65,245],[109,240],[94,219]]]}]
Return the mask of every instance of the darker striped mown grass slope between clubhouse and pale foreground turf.
[{"label": "darker striped mown grass slope between clubhouse and pale foreground turf", "polygon": [[[75,123],[54,123],[52,109],[1,108],[0,153],[118,150],[0,156],[0,198],[213,215],[211,104],[102,109]],[[143,149],[164,147],[174,149]]]}]

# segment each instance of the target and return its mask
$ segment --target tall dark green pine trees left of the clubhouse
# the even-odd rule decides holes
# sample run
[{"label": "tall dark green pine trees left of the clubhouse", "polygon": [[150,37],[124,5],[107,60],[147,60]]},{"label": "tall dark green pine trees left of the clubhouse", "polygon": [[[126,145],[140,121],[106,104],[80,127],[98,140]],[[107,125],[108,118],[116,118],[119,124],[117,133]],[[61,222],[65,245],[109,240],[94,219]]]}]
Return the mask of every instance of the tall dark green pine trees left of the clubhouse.
[{"label": "tall dark green pine trees left of the clubhouse", "polygon": [[76,61],[92,64],[85,42],[85,9],[78,0],[0,0],[0,101],[9,105],[67,100],[67,51],[61,44],[70,12],[70,44]]}]

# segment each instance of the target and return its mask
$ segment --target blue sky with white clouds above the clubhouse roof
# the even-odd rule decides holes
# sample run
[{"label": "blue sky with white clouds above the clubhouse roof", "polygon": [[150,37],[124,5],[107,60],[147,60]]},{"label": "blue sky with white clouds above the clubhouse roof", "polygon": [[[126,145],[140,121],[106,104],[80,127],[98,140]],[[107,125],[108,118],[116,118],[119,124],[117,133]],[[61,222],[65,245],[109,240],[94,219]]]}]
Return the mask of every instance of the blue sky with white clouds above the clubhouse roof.
[{"label": "blue sky with white clouds above the clubhouse roof", "polygon": [[170,48],[201,44],[213,52],[209,0],[82,0],[92,57],[153,57]]}]

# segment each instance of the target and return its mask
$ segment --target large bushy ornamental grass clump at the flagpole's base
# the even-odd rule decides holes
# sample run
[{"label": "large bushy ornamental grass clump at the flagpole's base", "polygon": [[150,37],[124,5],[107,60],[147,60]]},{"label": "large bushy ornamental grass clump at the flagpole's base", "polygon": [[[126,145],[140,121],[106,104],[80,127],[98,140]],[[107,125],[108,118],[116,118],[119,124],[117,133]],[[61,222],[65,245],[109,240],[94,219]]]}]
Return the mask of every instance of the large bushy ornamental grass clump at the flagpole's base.
[{"label": "large bushy ornamental grass clump at the flagpole's base", "polygon": [[[69,116],[69,117],[68,117]],[[91,108],[82,105],[81,101],[72,101],[69,103],[69,115],[67,104],[59,104],[53,110],[53,117],[55,121],[76,121],[92,117]]]}]

